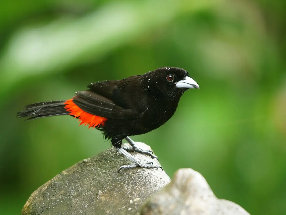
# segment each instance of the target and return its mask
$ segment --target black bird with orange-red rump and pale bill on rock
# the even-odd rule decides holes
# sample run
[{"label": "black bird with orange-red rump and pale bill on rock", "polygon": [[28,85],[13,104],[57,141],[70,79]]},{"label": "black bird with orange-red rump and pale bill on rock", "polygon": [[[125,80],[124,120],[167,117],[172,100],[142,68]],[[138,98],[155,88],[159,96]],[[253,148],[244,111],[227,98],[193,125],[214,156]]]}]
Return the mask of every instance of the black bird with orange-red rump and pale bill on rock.
[{"label": "black bird with orange-red rump and pale bill on rock", "polygon": [[[161,67],[143,75],[122,80],[91,83],[87,90],[78,91],[71,99],[33,103],[17,113],[17,117],[33,120],[50,116],[70,115],[80,125],[102,131],[117,151],[133,164],[118,169],[134,167],[161,168],[154,162],[143,162],[129,152],[158,157],[152,150],[140,148],[130,136],[145,134],[165,124],[175,113],[179,100],[188,89],[199,89],[189,73],[179,67]],[[130,146],[122,144],[125,139]]]}]

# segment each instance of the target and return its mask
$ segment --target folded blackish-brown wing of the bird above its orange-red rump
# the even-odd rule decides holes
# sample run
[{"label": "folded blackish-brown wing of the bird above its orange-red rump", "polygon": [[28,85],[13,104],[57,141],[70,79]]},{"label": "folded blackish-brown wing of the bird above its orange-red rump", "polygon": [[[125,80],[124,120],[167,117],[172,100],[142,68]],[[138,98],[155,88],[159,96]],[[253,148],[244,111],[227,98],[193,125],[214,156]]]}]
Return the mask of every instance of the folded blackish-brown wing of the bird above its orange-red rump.
[{"label": "folded blackish-brown wing of the bird above its orange-red rump", "polygon": [[[110,119],[134,119],[142,116],[143,108],[133,108],[128,94],[118,87],[120,80],[90,84],[89,90],[76,92],[73,102],[87,113]],[[131,99],[132,100],[132,99]]]}]

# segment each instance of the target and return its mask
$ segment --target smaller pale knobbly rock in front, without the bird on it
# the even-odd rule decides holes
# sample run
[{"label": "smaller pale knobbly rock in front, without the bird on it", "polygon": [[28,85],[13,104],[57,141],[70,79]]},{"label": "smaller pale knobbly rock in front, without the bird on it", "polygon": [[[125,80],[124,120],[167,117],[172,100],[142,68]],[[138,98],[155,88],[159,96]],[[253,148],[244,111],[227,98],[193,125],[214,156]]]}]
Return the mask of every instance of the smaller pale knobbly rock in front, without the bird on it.
[{"label": "smaller pale knobbly rock in front, without the bird on it", "polygon": [[249,215],[241,206],[218,199],[206,179],[192,169],[179,169],[172,182],[150,197],[141,215]]}]

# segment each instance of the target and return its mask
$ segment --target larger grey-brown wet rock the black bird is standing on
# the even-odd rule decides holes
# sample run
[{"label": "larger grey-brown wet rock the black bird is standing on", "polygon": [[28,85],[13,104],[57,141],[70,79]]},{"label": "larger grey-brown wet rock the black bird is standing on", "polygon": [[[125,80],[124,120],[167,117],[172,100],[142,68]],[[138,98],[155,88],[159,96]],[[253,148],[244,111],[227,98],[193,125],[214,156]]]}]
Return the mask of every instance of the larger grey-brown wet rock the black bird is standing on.
[{"label": "larger grey-brown wet rock the black bird is standing on", "polygon": [[[150,147],[140,143],[140,147]],[[147,155],[131,153],[150,161]],[[156,159],[152,160],[156,163]],[[114,148],[84,159],[39,187],[24,205],[22,214],[138,214],[142,202],[170,182],[161,169],[134,168]]]}]

